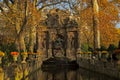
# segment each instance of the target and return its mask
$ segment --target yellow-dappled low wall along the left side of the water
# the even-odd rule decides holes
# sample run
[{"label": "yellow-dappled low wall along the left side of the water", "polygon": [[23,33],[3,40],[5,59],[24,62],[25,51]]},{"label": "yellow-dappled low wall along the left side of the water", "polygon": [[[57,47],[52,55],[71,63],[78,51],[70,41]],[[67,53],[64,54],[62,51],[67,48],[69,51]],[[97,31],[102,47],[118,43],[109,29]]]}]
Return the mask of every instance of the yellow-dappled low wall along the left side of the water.
[{"label": "yellow-dappled low wall along the left side of the water", "polygon": [[3,67],[3,80],[33,80],[31,75],[41,68],[43,56],[34,54],[29,56],[26,63],[11,63]]}]

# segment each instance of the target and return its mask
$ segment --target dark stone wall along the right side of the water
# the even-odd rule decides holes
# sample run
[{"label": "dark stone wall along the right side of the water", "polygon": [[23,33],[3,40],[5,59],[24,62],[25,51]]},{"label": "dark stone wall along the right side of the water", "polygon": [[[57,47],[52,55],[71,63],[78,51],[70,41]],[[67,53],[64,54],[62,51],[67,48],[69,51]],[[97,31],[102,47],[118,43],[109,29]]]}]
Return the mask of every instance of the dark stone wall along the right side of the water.
[{"label": "dark stone wall along the right side of the water", "polygon": [[81,68],[102,73],[120,79],[120,70],[118,65],[113,62],[103,62],[100,60],[78,58],[77,60]]}]

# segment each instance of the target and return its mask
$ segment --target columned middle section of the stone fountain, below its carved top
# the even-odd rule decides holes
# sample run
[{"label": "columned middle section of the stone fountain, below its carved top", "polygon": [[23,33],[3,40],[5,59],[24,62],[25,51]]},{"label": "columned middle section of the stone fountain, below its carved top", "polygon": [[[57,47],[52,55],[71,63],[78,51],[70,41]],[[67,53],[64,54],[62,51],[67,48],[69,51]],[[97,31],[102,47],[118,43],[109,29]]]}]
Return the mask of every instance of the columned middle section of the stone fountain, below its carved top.
[{"label": "columned middle section of the stone fountain, below its carved top", "polygon": [[75,58],[78,50],[77,27],[41,29],[38,33],[38,52],[46,57]]}]

